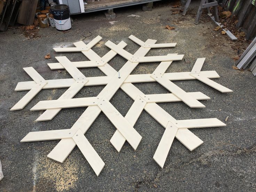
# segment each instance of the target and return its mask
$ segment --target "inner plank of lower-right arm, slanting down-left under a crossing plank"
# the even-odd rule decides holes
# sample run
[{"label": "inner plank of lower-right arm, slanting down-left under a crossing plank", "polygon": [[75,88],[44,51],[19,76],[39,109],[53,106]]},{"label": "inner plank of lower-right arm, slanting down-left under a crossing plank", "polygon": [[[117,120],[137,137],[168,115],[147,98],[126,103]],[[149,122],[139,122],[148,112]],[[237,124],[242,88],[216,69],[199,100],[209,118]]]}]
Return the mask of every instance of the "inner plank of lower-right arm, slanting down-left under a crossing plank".
[{"label": "inner plank of lower-right arm, slanting down-left under a crossing plank", "polygon": [[[130,123],[131,126],[134,126],[137,119],[139,118],[139,115],[141,115],[141,112],[144,109],[144,106],[146,105],[146,101],[138,96],[133,105],[131,105],[129,111],[125,115],[125,119]],[[125,137],[122,136],[119,130],[116,130],[112,138],[110,139],[110,143],[115,147],[115,149],[120,152],[122,149],[123,144],[125,144]]]}]

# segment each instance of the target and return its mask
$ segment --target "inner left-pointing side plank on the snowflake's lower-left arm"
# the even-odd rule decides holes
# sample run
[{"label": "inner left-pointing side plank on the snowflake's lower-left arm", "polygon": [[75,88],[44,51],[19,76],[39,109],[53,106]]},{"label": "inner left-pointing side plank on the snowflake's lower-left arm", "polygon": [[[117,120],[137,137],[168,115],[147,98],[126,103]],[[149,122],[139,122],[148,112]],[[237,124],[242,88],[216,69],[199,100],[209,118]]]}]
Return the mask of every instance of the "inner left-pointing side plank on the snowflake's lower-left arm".
[{"label": "inner left-pointing side plank on the snowflake's lower-left arm", "polygon": [[73,99],[57,99],[49,101],[39,101],[33,106],[30,111],[46,110],[46,109],[63,109],[72,107],[86,107],[90,105],[97,105],[99,97],[85,97]]}]

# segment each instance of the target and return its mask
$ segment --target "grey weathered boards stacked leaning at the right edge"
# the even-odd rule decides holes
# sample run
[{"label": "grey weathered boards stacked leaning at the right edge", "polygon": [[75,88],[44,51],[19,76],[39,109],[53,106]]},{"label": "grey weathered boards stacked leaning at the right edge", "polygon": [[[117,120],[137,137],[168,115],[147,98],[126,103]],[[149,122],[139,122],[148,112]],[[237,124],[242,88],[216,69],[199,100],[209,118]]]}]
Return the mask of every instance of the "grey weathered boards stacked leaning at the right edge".
[{"label": "grey weathered boards stacked leaning at the right edge", "polygon": [[249,64],[249,70],[256,76],[256,37],[247,47],[237,62],[238,69],[245,69]]}]

